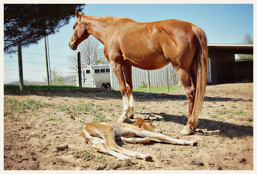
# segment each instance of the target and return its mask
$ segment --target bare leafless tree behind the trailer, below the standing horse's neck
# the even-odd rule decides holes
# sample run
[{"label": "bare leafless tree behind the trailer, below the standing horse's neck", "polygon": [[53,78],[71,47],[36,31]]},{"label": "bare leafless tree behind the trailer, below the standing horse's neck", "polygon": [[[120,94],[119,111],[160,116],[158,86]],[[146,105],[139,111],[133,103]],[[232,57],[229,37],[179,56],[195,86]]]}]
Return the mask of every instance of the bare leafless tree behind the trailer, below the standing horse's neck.
[{"label": "bare leafless tree behind the trailer, below the standing horse's neck", "polygon": [[70,62],[72,63],[72,69],[77,67],[78,59],[77,54],[80,52],[81,65],[96,65],[96,64],[108,64],[108,60],[103,54],[103,48],[100,46],[100,42],[94,37],[89,36],[81,44],[78,49],[74,51]]}]

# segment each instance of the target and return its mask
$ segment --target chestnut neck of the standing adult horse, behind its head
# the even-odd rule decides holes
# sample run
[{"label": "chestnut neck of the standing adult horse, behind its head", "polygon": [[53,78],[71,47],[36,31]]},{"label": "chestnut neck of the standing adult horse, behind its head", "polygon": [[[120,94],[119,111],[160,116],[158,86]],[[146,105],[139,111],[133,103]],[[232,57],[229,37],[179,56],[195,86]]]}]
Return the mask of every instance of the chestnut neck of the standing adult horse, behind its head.
[{"label": "chestnut neck of the standing adult horse, behind its head", "polygon": [[94,19],[92,17],[85,17],[82,21],[86,26],[87,32],[93,35],[104,45],[110,24],[108,22],[104,22],[100,19]]}]

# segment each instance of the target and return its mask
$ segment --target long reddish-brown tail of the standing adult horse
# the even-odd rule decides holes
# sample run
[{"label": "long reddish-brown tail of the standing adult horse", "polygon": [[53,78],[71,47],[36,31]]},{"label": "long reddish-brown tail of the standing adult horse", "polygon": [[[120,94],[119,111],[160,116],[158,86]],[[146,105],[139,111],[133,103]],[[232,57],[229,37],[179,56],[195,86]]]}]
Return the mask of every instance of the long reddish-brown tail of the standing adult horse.
[{"label": "long reddish-brown tail of the standing adult horse", "polygon": [[198,115],[201,112],[201,108],[204,101],[204,95],[207,84],[207,57],[208,57],[208,46],[207,38],[205,32],[197,27],[192,25],[192,30],[194,31],[197,38],[197,50],[194,57],[193,70],[195,73],[195,101],[191,114],[192,127],[196,127],[198,124]]}]

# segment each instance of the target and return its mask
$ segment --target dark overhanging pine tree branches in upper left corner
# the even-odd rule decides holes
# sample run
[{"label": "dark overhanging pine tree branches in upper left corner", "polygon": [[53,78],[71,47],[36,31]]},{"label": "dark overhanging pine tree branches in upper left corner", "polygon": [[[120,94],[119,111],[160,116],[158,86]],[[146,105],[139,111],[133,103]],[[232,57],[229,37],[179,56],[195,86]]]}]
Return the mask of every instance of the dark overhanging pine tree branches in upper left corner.
[{"label": "dark overhanging pine tree branches in upper left corner", "polygon": [[54,34],[68,24],[75,10],[83,10],[80,4],[5,4],[4,51],[17,52],[23,47],[38,43],[44,36]]}]

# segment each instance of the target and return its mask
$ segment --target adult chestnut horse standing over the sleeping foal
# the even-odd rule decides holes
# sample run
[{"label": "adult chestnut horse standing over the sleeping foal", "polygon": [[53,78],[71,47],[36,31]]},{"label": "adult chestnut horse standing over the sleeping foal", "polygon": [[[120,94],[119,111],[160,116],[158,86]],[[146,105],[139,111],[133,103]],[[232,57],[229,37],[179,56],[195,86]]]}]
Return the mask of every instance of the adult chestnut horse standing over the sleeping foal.
[{"label": "adult chestnut horse standing over the sleeping foal", "polygon": [[198,124],[207,81],[207,39],[194,24],[166,20],[148,23],[127,18],[80,15],[73,25],[69,47],[77,46],[89,35],[104,45],[104,55],[118,79],[123,100],[123,113],[118,122],[133,118],[132,66],[159,69],[172,63],[185,89],[189,102],[187,125],[181,131],[189,135]]}]

